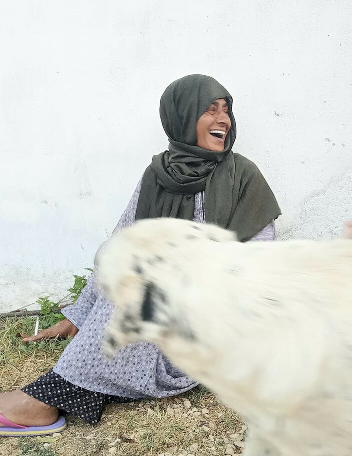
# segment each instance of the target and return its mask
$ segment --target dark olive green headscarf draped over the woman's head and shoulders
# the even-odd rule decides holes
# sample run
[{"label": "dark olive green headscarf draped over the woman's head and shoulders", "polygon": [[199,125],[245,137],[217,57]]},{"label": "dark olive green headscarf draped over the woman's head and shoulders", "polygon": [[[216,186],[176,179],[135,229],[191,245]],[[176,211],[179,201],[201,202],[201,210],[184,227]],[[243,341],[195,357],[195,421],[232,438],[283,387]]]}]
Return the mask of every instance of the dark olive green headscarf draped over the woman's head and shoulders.
[{"label": "dark olive green headscarf draped over the woman's head and shoulders", "polygon": [[[224,98],[231,128],[222,152],[197,146],[196,124],[209,105]],[[232,97],[215,79],[200,74],[170,84],[160,100],[169,150],[146,169],[136,219],[192,220],[194,195],[205,192],[205,220],[247,241],[280,215],[276,199],[254,163],[231,151],[236,138]]]}]

